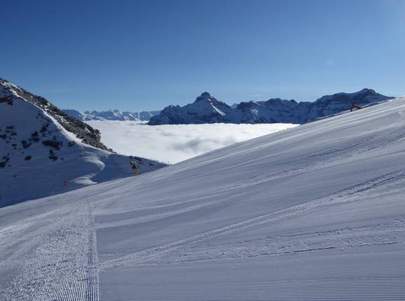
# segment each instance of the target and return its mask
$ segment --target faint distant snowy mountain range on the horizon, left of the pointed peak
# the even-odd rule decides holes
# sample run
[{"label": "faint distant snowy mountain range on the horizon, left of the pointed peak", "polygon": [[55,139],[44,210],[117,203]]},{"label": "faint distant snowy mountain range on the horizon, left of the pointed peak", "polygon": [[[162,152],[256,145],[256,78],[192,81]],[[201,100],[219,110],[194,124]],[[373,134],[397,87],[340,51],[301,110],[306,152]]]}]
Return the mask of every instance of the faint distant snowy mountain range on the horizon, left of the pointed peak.
[{"label": "faint distant snowy mountain range on the horizon, left of the pointed peak", "polygon": [[118,110],[109,111],[85,111],[84,113],[72,109],[63,109],[67,115],[77,118],[81,121],[88,120],[132,120],[149,121],[152,116],[158,115],[160,111],[142,111],[142,112],[121,112]]}]

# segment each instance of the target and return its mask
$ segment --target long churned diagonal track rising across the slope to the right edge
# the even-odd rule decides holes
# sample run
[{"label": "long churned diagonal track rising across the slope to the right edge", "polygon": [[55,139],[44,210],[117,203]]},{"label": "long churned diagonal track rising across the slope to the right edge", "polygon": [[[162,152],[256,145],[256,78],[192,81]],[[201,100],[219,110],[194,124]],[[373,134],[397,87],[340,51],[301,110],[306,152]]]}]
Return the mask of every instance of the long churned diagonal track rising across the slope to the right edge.
[{"label": "long churned diagonal track rising across the slope to the right edge", "polygon": [[263,214],[260,216],[256,216],[254,218],[249,218],[245,221],[240,221],[238,223],[226,225],[221,228],[217,228],[207,232],[201,232],[197,235],[186,237],[185,239],[170,241],[160,246],[145,248],[144,250],[136,251],[128,255],[123,255],[119,258],[107,260],[99,264],[99,269],[102,270],[111,267],[139,265],[141,263],[147,262],[149,258],[156,258],[159,255],[170,253],[170,251],[179,248],[181,246],[184,246],[186,244],[191,244],[197,241],[203,241],[220,235],[231,234],[233,232],[238,232],[241,230],[245,230],[247,228],[256,227],[258,225],[266,223],[272,223],[282,218],[289,218],[291,216],[303,214],[306,211],[310,211],[317,207],[331,206],[343,202],[355,202],[356,196],[359,193],[369,192],[370,190],[376,190],[385,186],[396,185],[397,183],[404,182],[404,180],[405,180],[404,171],[400,170],[396,172],[391,172],[383,176],[378,176],[375,179],[365,181],[358,185],[351,186],[336,193],[332,193],[331,195],[319,197],[315,200],[311,200],[303,204],[298,204],[296,206],[289,207],[287,209],[282,209],[280,211]]}]

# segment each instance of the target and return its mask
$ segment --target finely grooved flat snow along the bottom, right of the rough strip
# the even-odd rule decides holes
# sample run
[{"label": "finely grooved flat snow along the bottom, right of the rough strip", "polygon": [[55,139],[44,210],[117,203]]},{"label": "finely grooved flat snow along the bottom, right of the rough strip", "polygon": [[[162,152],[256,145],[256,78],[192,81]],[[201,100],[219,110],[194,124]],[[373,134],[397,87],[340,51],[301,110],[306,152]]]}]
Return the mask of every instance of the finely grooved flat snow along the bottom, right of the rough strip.
[{"label": "finely grooved flat snow along the bottom, right of the rough strip", "polygon": [[[344,255],[343,261],[341,257],[323,252],[318,258],[294,255],[266,262],[252,258],[238,265],[225,260],[205,267],[192,262],[172,268],[112,269],[110,275],[101,274],[102,286],[109,288],[102,292],[102,300],[404,300],[404,257],[399,252],[371,253],[372,260],[359,254]],[[232,278],[238,280],[218,273],[221,269],[232,270]],[[195,271],[188,278],[170,277],[188,270]],[[119,274],[125,280],[111,278]],[[252,279],[247,281],[244,274]]]}]

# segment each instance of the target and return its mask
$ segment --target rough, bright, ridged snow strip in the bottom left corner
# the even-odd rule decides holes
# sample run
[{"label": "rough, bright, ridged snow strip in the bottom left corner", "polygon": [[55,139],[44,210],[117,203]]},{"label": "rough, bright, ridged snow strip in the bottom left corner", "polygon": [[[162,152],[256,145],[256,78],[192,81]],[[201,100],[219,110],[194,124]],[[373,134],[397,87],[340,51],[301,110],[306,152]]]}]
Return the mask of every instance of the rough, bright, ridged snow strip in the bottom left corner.
[{"label": "rough, bright, ridged snow strip in the bottom left corner", "polygon": [[[18,248],[32,251],[17,263],[22,272],[0,300],[99,300],[91,210],[88,201],[82,200],[32,218],[36,229],[29,240],[18,242]],[[14,265],[19,255],[11,255],[1,265]]]}]

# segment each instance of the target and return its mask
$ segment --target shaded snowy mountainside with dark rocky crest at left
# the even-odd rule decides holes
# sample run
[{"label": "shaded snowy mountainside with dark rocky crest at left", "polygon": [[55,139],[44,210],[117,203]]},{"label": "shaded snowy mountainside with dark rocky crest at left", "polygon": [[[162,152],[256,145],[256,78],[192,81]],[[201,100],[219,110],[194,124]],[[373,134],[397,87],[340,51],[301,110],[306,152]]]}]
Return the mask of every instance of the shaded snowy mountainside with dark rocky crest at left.
[{"label": "shaded snowy mountainside with dark rocky crest at left", "polygon": [[[100,132],[0,79],[0,207],[134,174]],[[137,158],[141,172],[164,165]]]}]

